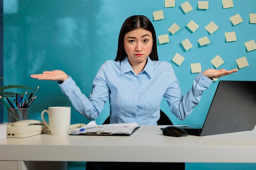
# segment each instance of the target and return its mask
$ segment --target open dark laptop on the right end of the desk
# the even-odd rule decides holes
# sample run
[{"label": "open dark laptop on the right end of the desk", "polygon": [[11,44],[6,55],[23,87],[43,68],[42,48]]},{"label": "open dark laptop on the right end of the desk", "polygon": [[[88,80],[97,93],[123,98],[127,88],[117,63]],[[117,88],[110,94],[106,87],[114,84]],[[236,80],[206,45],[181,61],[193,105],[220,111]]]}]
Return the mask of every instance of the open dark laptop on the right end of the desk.
[{"label": "open dark laptop on the right end of the desk", "polygon": [[256,81],[219,81],[204,124],[180,128],[207,136],[253,130],[255,124]]}]

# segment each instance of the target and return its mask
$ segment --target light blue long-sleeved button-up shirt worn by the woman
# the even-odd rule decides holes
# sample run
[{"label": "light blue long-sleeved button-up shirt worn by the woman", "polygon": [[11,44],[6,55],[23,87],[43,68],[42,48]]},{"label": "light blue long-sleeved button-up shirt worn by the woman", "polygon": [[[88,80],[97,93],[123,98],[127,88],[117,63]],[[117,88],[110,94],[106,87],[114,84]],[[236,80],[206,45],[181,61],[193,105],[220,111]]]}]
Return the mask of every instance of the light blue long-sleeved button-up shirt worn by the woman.
[{"label": "light blue long-sleeved button-up shirt worn by the woman", "polygon": [[178,119],[185,119],[198,105],[205,89],[213,80],[200,72],[186,95],[182,95],[173,67],[164,61],[148,57],[144,70],[134,73],[126,57],[122,62],[108,60],[93,80],[93,89],[86,97],[69,77],[59,84],[74,108],[87,119],[96,119],[109,98],[110,123],[156,125],[160,117],[162,98]]}]

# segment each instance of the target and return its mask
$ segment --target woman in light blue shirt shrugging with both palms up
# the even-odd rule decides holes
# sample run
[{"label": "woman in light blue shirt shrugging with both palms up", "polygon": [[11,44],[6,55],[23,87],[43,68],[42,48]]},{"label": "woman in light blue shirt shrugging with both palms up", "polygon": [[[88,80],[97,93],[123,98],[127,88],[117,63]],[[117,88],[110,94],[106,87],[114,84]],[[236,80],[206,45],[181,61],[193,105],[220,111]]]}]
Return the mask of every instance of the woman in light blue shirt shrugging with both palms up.
[{"label": "woman in light blue shirt shrugging with both palms up", "polygon": [[102,64],[89,97],[63,71],[44,71],[31,77],[58,81],[74,108],[87,119],[96,119],[109,99],[111,124],[137,122],[139,125],[157,125],[162,97],[171,112],[183,120],[198,105],[213,78],[236,71],[238,69],[202,71],[194,79],[190,91],[183,96],[172,65],[158,61],[153,24],[143,15],[134,15],[122,25],[117,56],[115,60]]}]

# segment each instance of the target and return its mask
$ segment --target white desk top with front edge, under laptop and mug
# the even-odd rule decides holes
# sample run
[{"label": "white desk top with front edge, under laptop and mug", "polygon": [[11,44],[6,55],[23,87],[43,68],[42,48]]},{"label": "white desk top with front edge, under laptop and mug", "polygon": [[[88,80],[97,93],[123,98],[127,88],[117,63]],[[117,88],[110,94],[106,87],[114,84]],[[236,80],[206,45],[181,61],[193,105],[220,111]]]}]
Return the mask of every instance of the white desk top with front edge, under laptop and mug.
[{"label": "white desk top with front edge, under laptop and mug", "polygon": [[256,128],[211,136],[168,137],[141,126],[131,136],[53,136],[0,140],[0,160],[256,163]]}]

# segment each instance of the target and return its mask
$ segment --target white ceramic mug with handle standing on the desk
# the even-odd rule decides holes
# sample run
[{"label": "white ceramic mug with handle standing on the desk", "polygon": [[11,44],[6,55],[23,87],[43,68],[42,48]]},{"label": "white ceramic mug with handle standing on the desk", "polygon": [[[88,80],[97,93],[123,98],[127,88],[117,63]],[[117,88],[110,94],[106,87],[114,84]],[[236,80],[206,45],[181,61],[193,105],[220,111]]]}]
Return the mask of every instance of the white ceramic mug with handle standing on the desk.
[{"label": "white ceramic mug with handle standing on the desk", "polygon": [[[45,113],[48,113],[49,124],[45,120]],[[70,107],[49,107],[48,110],[43,110],[41,117],[45,125],[51,131],[52,135],[68,135],[71,117]]]}]

